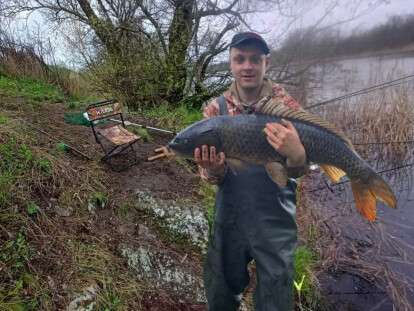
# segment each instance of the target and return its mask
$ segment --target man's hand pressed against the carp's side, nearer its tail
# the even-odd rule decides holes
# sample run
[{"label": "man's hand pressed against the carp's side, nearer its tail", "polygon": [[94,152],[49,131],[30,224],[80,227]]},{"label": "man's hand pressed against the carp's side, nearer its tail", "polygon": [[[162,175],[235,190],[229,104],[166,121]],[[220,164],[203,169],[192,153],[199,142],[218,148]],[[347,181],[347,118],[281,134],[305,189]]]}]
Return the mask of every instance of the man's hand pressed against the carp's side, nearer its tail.
[{"label": "man's hand pressed against the carp's side, nearer its tail", "polygon": [[281,123],[267,123],[264,131],[269,144],[287,158],[288,166],[297,167],[305,164],[305,148],[291,122],[282,119]]}]

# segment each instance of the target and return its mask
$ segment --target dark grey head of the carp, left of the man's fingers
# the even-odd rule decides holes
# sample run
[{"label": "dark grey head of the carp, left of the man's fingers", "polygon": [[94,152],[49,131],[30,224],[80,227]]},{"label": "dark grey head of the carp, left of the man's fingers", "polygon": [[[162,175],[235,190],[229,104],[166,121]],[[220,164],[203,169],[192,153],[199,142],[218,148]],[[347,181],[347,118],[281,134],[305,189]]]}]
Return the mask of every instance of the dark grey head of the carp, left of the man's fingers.
[{"label": "dark grey head of the carp, left of the man's fingers", "polygon": [[214,126],[213,119],[198,121],[179,132],[168,144],[178,156],[192,158],[194,150],[203,145],[215,146],[221,150],[220,135]]}]

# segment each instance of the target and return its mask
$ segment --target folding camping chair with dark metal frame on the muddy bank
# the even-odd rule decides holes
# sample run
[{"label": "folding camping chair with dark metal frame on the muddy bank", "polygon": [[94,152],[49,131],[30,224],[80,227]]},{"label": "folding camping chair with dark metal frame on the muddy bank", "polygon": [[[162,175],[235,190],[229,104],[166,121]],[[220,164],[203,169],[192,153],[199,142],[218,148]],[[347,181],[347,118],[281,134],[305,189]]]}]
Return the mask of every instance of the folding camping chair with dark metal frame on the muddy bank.
[{"label": "folding camping chair with dark metal frame on the muddy bank", "polygon": [[[123,113],[122,113],[122,105],[121,103],[119,103],[118,101],[116,101],[115,99],[109,99],[109,100],[104,100],[104,101],[100,101],[100,102],[96,102],[93,104],[90,104],[87,108],[86,108],[86,112],[88,114],[88,118],[89,121],[91,122],[91,128],[92,128],[92,132],[93,135],[95,137],[96,142],[101,146],[102,151],[104,152],[104,156],[101,158],[101,161],[106,162],[112,170],[114,171],[123,171],[133,165],[135,165],[138,161],[137,161],[137,155],[135,153],[134,147],[133,145],[141,138],[131,132],[129,132],[126,129],[125,126],[125,122],[124,122],[124,117],[123,117]],[[113,118],[115,117],[119,117],[121,120],[114,120]],[[102,120],[109,120],[114,122],[113,124],[111,124],[109,126],[109,128],[111,127],[116,127],[116,126],[121,126],[123,127],[122,132],[124,132],[124,134],[127,135],[131,135],[131,137],[134,137],[134,139],[128,141],[127,143],[120,143],[120,144],[114,144],[109,137],[105,136],[103,134],[103,132],[99,131],[99,126],[98,126],[98,121],[102,121]],[[108,149],[105,148],[104,143],[103,143],[103,139],[109,141],[110,143],[112,143],[113,145],[115,145],[114,147]],[[116,156],[116,155],[120,155],[122,152],[124,152],[126,149],[130,148],[132,152],[134,152],[135,154],[135,160],[133,161],[132,164],[128,165],[127,167],[121,168],[121,169],[117,169],[112,163],[111,163],[111,158]]]}]

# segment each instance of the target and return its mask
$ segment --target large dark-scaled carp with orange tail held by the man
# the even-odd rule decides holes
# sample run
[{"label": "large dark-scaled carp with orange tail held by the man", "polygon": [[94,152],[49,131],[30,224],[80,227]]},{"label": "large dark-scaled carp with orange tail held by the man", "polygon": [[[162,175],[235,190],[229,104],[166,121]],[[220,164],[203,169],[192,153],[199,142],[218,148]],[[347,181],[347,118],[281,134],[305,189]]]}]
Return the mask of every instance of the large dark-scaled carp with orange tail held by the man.
[{"label": "large dark-scaled carp with orange tail held by the man", "polygon": [[339,129],[309,112],[274,104],[270,98],[257,105],[255,114],[224,115],[196,122],[178,133],[169,148],[179,156],[192,158],[196,147],[215,146],[217,152],[224,152],[235,172],[249,163],[264,165],[269,176],[283,186],[286,159],[268,143],[263,131],[266,123],[280,123],[282,118],[295,126],[309,162],[318,164],[334,182],[348,176],[362,216],[375,220],[377,199],[396,207],[391,188]]}]

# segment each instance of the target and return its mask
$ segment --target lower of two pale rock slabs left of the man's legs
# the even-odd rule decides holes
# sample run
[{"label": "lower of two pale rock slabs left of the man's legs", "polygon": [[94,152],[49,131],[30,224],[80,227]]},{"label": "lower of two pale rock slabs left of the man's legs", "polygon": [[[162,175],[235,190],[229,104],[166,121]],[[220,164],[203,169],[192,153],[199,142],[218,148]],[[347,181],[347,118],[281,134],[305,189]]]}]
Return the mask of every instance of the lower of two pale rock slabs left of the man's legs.
[{"label": "lower of two pale rock slabs left of the man's legs", "polygon": [[151,246],[120,246],[120,252],[138,279],[145,279],[156,288],[171,290],[187,301],[205,303],[203,282],[185,260],[180,263],[165,251]]}]

